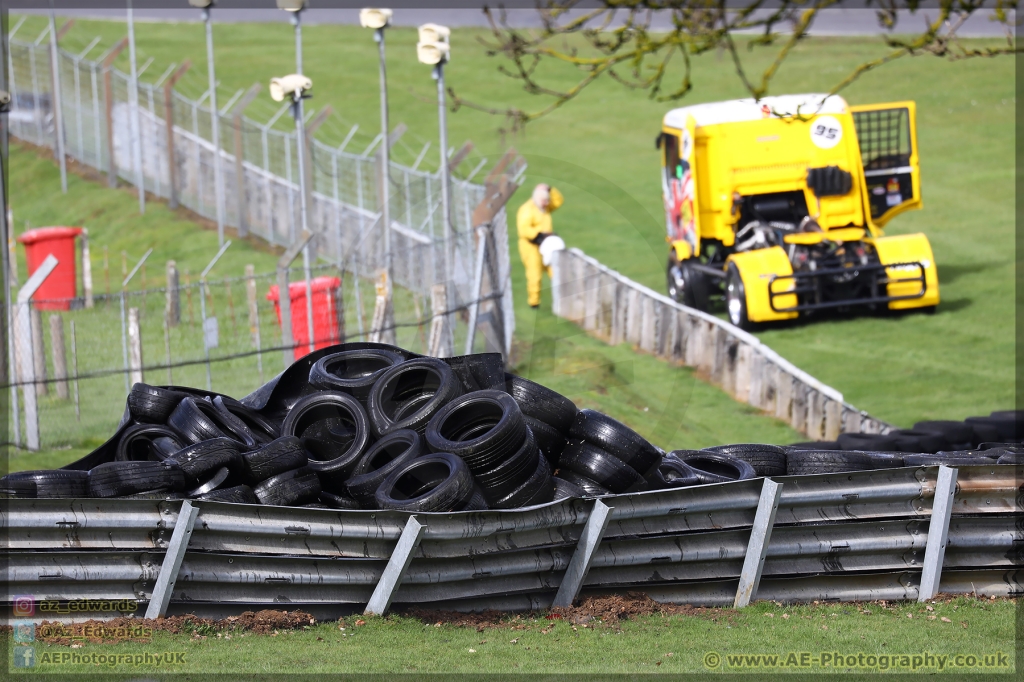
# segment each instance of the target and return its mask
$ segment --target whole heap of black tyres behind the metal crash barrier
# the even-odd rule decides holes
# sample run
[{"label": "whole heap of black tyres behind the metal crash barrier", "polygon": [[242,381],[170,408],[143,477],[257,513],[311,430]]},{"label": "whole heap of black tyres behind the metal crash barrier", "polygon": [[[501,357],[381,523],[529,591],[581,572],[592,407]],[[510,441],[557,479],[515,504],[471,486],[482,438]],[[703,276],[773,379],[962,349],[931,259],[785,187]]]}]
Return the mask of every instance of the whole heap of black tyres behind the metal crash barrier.
[{"label": "whole heap of black tyres behind the metal crash barrier", "polygon": [[[108,442],[62,469],[0,478],[0,497],[515,509],[756,476],[1017,463],[1017,413],[993,413],[836,443],[666,454],[607,415],[507,374],[500,355],[439,359],[352,343],[297,360],[241,400],[135,384]],[[963,450],[939,450],[949,443]]]}]

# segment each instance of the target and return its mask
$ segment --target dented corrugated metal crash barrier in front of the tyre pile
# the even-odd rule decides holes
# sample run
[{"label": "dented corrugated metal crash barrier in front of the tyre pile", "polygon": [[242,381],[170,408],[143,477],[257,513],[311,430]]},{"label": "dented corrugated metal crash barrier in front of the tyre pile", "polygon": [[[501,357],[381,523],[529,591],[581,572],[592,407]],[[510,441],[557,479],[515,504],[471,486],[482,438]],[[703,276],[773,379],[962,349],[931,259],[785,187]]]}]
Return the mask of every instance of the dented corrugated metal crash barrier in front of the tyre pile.
[{"label": "dented corrugated metal crash barrier in front of the tyre pile", "polygon": [[[1024,594],[1024,467],[940,467],[780,476],[763,578],[753,597],[783,601],[913,599],[930,562],[942,592]],[[946,470],[949,471],[949,470]],[[589,571],[570,592],[639,591],[656,600],[732,604],[754,547],[765,479],[607,496]],[[951,518],[929,547],[936,495]],[[772,498],[773,500],[774,498]],[[162,566],[185,503],[8,500],[0,510],[7,601],[159,601]],[[549,607],[594,509],[563,500],[511,511],[420,513],[402,563],[396,543],[411,515],[196,502],[180,569],[165,580],[170,612],[226,614],[255,606],[359,611],[389,564],[382,599],[396,607]],[[182,531],[184,528],[182,528]],[[184,535],[182,532],[182,535]],[[756,556],[756,555],[755,555]],[[166,563],[165,563],[166,562]],[[756,562],[755,562],[756,563]],[[943,571],[943,569],[945,569]],[[394,572],[394,571],[392,571]],[[396,586],[396,589],[395,589]],[[163,596],[167,596],[164,593]],[[386,608],[386,606],[385,606]],[[89,613],[89,616],[116,613]]]}]

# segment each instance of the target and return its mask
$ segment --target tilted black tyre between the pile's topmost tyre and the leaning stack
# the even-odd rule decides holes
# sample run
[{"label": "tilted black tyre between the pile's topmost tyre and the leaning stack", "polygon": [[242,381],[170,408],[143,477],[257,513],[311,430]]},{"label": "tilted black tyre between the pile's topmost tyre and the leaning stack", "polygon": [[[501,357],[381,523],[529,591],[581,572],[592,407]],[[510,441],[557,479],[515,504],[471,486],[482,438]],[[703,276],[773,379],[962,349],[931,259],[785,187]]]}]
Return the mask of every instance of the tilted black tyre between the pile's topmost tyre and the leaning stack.
[{"label": "tilted black tyre between the pile's topmost tyre and the leaning stack", "polygon": [[462,394],[462,386],[447,364],[418,357],[392,367],[380,376],[367,398],[374,434],[398,429],[423,434],[437,411]]}]

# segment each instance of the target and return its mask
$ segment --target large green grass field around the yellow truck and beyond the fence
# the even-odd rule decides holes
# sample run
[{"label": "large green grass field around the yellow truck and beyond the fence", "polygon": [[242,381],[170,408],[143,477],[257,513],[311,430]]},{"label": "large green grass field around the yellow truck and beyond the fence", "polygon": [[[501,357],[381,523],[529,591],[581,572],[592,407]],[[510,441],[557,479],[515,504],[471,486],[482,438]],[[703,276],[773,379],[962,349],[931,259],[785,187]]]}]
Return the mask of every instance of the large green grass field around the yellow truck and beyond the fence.
[{"label": "large green grass field around the yellow truck and beyond the fence", "polygon": [[[43,22],[30,17],[23,35],[36,35]],[[205,88],[200,25],[143,23],[136,32],[143,58],[156,59],[151,67],[154,78],[164,66],[187,56],[195,67],[185,87],[196,92]],[[65,40],[74,48],[100,35],[103,44],[111,44],[123,33],[123,24],[80,20]],[[218,25],[215,34],[217,74],[224,90],[248,87],[254,80],[264,83],[292,70],[291,27],[284,22]],[[305,70],[316,93],[312,105],[332,103],[344,119],[326,134],[340,136],[350,123],[375,130],[376,53],[369,32],[309,26],[303,36]],[[486,34],[477,30],[455,32],[449,83],[474,101],[538,109],[541,100],[498,74],[500,58],[485,56],[481,38]],[[388,33],[391,120],[404,121],[410,128],[409,148],[399,151],[399,158],[418,151],[417,139],[436,136],[429,104],[434,84],[428,70],[416,62],[414,43],[411,29]],[[884,49],[869,38],[809,39],[783,63],[772,91],[827,89]],[[753,52],[752,65],[763,65],[766,56]],[[566,86],[578,76],[570,70],[547,73],[555,86]],[[729,60],[720,54],[694,59],[693,84],[689,102],[743,95]],[[942,303],[934,316],[808,322],[765,330],[759,336],[858,408],[895,424],[962,419],[1012,407],[1013,60],[905,58],[866,74],[845,96],[853,103],[918,102],[925,209],[898,217],[889,233],[920,230],[929,236],[939,265]],[[500,118],[464,108],[450,117],[451,139],[459,143],[471,138],[492,159],[504,143],[513,142],[529,162],[528,185],[551,181],[565,193],[566,204],[555,215],[555,225],[567,243],[660,290],[666,249],[652,142],[660,117],[671,105],[599,81],[514,139],[498,134]],[[266,102],[256,110],[259,106],[269,111]],[[256,111],[257,118],[261,112]],[[513,208],[525,200],[528,188],[513,198]],[[521,272],[514,268],[514,273],[521,292]]]}]

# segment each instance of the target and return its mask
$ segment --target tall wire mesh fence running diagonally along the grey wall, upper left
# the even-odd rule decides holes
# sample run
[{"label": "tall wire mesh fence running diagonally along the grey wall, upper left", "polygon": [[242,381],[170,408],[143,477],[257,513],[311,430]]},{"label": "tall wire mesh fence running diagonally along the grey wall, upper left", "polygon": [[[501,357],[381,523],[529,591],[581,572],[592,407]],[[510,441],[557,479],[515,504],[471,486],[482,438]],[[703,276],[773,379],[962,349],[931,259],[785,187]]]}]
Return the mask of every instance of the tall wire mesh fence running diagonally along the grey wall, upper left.
[{"label": "tall wire mesh fence running diagonally along the grey wall, upper left", "polygon": [[[321,261],[364,278],[389,267],[397,287],[424,299],[435,284],[445,283],[452,306],[463,306],[476,296],[473,213],[486,198],[484,185],[451,177],[451,229],[445,230],[441,175],[418,168],[422,153],[413,166],[391,162],[387,173],[379,154],[382,135],[361,153],[347,150],[350,134],[338,146],[307,135],[307,153],[300,155],[298,135],[274,128],[286,110],[264,123],[250,119],[244,116],[247,98],[242,91],[226,98],[216,113],[218,147],[211,141],[210,93],[189,98],[174,90],[173,79],[168,80],[171,68],[154,83],[136,82],[133,90],[131,77],[108,58],[117,56],[123,44],[97,60],[58,49],[60,92],[54,97],[53,52],[38,43],[8,43],[14,136],[55,148],[54,106],[59,101],[68,154],[109,173],[112,180],[136,183],[141,177],[146,191],[212,220],[218,215],[214,171],[219,166],[224,224],[278,246],[291,245],[301,229],[298,163],[304,158],[310,180],[311,245]],[[524,165],[512,168],[517,175],[510,179],[516,180]],[[390,186],[389,225],[381,219],[385,179]],[[490,223],[511,343],[514,319],[504,208]],[[388,241],[390,253],[385,249]]]}]

